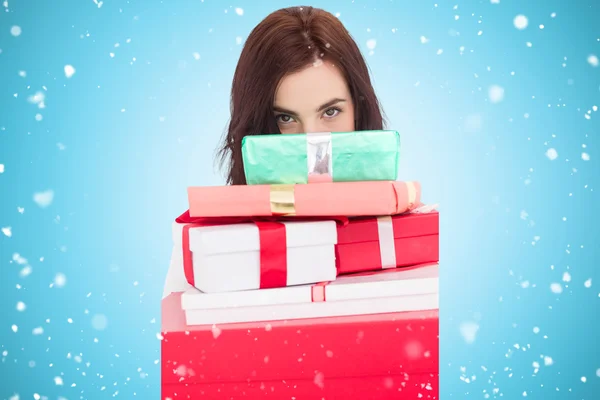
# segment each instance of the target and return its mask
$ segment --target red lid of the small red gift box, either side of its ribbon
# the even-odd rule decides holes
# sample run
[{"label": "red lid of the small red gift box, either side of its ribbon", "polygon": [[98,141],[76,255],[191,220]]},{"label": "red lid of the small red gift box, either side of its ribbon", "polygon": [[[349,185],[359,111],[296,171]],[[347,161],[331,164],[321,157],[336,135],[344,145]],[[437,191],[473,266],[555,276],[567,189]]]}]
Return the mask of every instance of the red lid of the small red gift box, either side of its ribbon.
[{"label": "red lid of the small red gift box, either side of its ribbon", "polygon": [[[438,235],[439,212],[407,212],[391,217],[395,239]],[[358,217],[350,219],[345,226],[338,226],[338,244],[378,240],[377,218]]]}]

